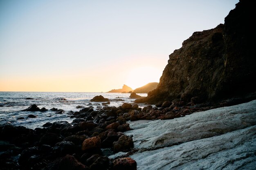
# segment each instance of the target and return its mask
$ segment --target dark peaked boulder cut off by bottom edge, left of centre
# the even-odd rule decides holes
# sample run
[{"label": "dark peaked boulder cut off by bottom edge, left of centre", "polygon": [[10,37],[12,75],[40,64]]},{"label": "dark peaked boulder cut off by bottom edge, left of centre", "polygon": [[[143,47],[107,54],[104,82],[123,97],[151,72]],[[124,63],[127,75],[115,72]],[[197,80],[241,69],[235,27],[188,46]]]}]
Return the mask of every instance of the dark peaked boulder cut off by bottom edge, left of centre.
[{"label": "dark peaked boulder cut off by bottom edge, left of centre", "polygon": [[[56,166],[56,170],[86,170],[87,166],[79,162],[75,157],[66,155]],[[53,169],[52,169],[53,170]]]}]

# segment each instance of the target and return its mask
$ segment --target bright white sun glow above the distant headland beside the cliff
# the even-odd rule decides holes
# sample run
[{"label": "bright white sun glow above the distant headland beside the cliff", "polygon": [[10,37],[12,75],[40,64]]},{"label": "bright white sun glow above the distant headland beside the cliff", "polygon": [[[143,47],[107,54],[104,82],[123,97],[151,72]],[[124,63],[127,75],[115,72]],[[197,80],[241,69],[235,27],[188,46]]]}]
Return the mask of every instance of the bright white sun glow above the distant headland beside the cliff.
[{"label": "bright white sun glow above the distant headland beside the cliff", "polygon": [[126,76],[125,84],[135,89],[151,82],[159,82],[161,75],[162,70],[154,67],[133,68]]}]

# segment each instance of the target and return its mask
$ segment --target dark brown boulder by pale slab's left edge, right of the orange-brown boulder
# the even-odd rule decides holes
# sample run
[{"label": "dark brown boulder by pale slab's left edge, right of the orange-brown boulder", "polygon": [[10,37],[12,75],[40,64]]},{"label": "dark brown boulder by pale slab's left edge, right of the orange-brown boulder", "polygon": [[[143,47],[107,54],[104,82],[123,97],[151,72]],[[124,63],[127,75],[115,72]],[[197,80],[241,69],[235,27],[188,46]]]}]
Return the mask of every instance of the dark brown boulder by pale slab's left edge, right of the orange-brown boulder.
[{"label": "dark brown boulder by pale slab's left edge, right of the orange-brown boulder", "polygon": [[119,137],[118,141],[113,143],[114,152],[127,151],[130,148],[133,148],[132,138],[126,135]]}]

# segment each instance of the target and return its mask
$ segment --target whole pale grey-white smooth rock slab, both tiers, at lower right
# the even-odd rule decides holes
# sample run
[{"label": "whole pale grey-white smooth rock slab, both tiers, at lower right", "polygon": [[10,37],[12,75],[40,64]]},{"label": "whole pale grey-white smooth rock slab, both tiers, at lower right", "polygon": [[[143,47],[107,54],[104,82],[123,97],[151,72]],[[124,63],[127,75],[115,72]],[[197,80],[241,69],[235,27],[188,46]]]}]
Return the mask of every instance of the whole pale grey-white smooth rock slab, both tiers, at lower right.
[{"label": "whole pale grey-white smooth rock slab, both tiers, at lower right", "polygon": [[256,100],[130,127],[138,170],[256,169]]}]

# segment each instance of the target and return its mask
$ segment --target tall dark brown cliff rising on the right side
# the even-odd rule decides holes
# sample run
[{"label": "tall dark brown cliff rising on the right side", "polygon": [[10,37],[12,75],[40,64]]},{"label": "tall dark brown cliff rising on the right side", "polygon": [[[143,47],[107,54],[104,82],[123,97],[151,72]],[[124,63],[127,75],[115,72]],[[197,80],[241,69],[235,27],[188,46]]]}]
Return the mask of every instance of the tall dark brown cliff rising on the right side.
[{"label": "tall dark brown cliff rising on the right side", "polygon": [[225,24],[195,32],[169,55],[159,85],[136,102],[223,99],[256,90],[254,2],[240,0]]}]

